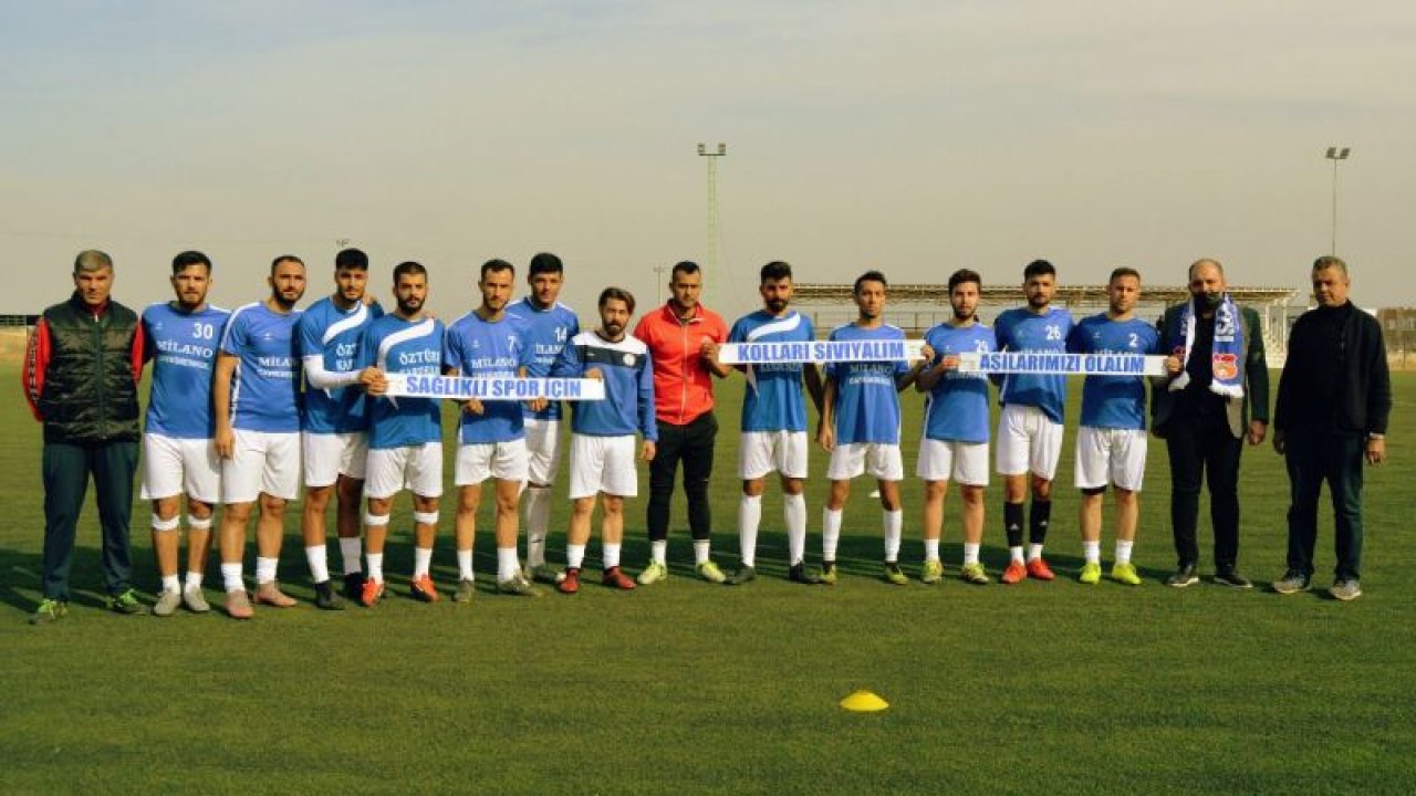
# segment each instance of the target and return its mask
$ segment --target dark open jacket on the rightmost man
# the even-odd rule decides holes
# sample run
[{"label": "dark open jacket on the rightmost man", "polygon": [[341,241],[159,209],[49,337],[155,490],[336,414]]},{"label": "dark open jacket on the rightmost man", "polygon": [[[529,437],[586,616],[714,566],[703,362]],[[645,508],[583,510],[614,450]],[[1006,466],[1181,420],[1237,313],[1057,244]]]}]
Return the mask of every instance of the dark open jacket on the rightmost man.
[{"label": "dark open jacket on the rightmost man", "polygon": [[1289,336],[1289,360],[1283,364],[1279,378],[1279,402],[1274,408],[1273,428],[1283,432],[1304,431],[1293,428],[1303,416],[1306,404],[1315,397],[1304,390],[1314,384],[1311,374],[1317,368],[1340,368],[1341,394],[1334,426],[1349,433],[1386,433],[1386,422],[1392,414],[1392,377],[1386,365],[1386,343],[1382,340],[1382,324],[1369,313],[1351,306],[1342,322],[1338,363],[1318,361],[1311,356],[1317,346],[1317,316],[1313,310],[1298,316]]}]

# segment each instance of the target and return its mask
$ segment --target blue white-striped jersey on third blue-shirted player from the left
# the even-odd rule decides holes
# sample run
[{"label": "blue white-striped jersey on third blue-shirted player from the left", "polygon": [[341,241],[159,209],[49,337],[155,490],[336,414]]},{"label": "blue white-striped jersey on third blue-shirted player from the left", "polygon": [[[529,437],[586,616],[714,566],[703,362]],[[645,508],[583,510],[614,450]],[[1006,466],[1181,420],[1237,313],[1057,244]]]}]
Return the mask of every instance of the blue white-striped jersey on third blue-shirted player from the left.
[{"label": "blue white-striped jersey on third blue-shirted player from the left", "polygon": [[[300,357],[320,357],[324,370],[348,373],[358,358],[358,341],[364,327],[384,310],[355,302],[348,310],[341,310],[329,296],[316,302],[300,316],[296,336],[300,341]],[[358,385],[320,390],[304,384],[304,412],[302,426],[313,433],[348,433],[368,428],[364,414],[364,390]]]}]

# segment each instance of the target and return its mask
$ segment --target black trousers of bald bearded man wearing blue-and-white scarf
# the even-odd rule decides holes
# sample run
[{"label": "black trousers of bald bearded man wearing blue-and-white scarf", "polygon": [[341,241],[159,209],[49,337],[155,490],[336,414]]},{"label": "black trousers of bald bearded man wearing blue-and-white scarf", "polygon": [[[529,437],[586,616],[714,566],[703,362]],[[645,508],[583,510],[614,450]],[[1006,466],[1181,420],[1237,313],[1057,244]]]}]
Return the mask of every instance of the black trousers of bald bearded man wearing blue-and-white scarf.
[{"label": "black trousers of bald bearded man wearing blue-and-white scarf", "polygon": [[1175,418],[1167,428],[1170,525],[1181,567],[1199,564],[1199,487],[1209,483],[1209,523],[1215,530],[1215,569],[1239,561],[1239,453],[1243,439],[1222,412]]}]

